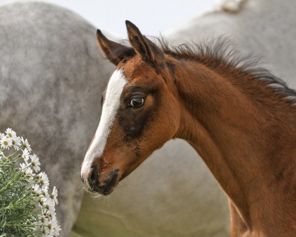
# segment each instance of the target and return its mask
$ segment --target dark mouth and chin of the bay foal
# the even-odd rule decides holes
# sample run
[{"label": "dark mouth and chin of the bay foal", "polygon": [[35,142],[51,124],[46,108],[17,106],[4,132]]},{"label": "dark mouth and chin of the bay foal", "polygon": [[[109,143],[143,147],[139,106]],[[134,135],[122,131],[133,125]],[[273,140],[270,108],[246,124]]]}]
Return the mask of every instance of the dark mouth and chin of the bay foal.
[{"label": "dark mouth and chin of the bay foal", "polygon": [[108,174],[108,179],[100,181],[99,178],[89,184],[87,189],[93,193],[99,193],[104,196],[110,195],[117,185],[119,169],[114,169]]}]

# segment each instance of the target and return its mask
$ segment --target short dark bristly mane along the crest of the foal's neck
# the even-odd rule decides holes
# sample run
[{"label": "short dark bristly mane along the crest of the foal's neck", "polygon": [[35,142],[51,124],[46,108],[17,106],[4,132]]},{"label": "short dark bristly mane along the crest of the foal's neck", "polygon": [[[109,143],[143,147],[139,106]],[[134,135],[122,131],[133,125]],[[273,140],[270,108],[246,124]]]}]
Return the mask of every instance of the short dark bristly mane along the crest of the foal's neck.
[{"label": "short dark bristly mane along the crest of the foal's neck", "polygon": [[163,38],[156,38],[156,40],[167,55],[176,59],[198,62],[222,72],[235,68],[240,76],[251,75],[253,79],[263,81],[280,94],[283,99],[287,99],[293,105],[296,104],[296,90],[289,88],[285,81],[274,76],[268,70],[257,67],[259,60],[254,56],[240,56],[239,51],[231,48],[229,40],[218,38],[198,44],[192,42],[177,46],[170,46]]}]

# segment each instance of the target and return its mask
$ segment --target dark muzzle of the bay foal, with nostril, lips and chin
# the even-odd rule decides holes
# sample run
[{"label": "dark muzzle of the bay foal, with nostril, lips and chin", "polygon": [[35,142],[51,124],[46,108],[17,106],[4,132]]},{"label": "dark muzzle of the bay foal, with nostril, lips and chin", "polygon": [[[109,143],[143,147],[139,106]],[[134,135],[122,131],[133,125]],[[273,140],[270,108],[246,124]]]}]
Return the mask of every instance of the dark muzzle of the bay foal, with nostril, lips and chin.
[{"label": "dark muzzle of the bay foal, with nostril, lips and chin", "polygon": [[100,180],[98,167],[96,163],[92,163],[87,174],[87,180],[82,176],[84,186],[91,192],[96,192],[102,195],[109,195],[115,188],[118,180],[119,169],[111,170],[104,180]]}]

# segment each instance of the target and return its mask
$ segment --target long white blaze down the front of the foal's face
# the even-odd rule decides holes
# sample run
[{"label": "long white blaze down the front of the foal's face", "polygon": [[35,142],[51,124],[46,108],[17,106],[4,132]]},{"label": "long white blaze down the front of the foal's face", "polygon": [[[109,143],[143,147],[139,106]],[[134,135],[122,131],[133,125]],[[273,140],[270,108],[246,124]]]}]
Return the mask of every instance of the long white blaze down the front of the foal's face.
[{"label": "long white blaze down the front of the foal's face", "polygon": [[95,138],[85,155],[81,168],[81,174],[84,171],[87,172],[93,158],[99,158],[103,154],[111,126],[120,106],[121,93],[126,83],[127,80],[125,79],[122,70],[115,70],[107,86],[101,120],[97,128]]}]

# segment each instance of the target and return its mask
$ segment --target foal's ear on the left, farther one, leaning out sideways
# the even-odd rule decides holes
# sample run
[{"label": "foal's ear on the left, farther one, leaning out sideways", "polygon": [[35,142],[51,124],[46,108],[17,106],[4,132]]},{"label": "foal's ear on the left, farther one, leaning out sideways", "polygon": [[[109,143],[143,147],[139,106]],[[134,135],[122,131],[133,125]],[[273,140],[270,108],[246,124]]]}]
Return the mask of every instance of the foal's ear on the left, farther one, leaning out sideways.
[{"label": "foal's ear on the left, farther one, leaning out sideways", "polygon": [[100,30],[97,30],[97,38],[105,56],[116,66],[122,59],[136,54],[133,48],[108,40]]}]

